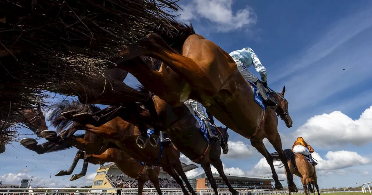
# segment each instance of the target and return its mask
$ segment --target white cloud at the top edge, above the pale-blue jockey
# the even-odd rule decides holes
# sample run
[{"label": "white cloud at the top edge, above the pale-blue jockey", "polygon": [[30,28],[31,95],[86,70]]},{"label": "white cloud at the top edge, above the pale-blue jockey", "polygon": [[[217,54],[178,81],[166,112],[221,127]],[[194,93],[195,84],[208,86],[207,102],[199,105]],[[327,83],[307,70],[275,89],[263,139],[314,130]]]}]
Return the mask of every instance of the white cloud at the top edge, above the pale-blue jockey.
[{"label": "white cloud at the top edge, above the pale-blue jockey", "polygon": [[257,22],[257,15],[251,7],[246,6],[236,12],[232,11],[233,0],[190,0],[179,12],[179,19],[190,21],[205,18],[213,23],[220,32],[241,29]]}]

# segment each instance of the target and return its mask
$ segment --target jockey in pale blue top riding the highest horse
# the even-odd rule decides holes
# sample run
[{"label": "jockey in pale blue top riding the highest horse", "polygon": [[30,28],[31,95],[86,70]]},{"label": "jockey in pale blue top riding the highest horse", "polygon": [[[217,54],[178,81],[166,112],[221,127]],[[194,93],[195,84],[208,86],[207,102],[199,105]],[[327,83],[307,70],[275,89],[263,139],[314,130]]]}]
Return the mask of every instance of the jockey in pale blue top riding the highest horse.
[{"label": "jockey in pale blue top riding the highest horse", "polygon": [[[275,109],[277,104],[270,97],[266,96],[265,87],[267,87],[267,73],[266,68],[261,64],[260,59],[258,59],[256,53],[253,52],[251,48],[243,48],[237,51],[229,53],[232,59],[238,66],[238,70],[243,75],[243,77],[251,82],[253,82],[259,93],[261,94],[263,100],[266,104]],[[262,81],[260,81],[248,68],[253,64],[256,71],[260,73]]]}]

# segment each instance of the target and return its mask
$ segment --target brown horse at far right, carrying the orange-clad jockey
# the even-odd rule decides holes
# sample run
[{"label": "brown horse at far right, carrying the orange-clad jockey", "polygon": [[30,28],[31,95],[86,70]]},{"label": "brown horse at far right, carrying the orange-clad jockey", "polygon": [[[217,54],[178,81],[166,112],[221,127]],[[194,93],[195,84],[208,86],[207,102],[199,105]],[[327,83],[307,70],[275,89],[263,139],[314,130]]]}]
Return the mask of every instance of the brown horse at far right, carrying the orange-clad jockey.
[{"label": "brown horse at far right, carrying the orange-clad jockey", "polygon": [[[317,188],[318,195],[320,195],[319,186],[317,183],[317,173],[315,171],[315,166],[311,165],[310,161],[307,160],[307,158],[304,155],[295,154],[294,152],[292,152],[291,149],[285,149],[284,153],[288,159],[288,166],[291,170],[291,172],[287,172],[285,170],[285,174],[286,175],[295,174],[299,178],[301,178],[301,182],[302,182],[302,186],[304,187],[305,195],[308,195],[308,186],[310,186],[311,183],[314,183],[315,188]],[[273,156],[273,159],[275,161],[280,161],[280,157],[277,152],[271,153],[271,155]],[[312,189],[312,192],[314,192],[315,194],[314,189]],[[289,192],[289,194],[291,194],[291,192]]]}]

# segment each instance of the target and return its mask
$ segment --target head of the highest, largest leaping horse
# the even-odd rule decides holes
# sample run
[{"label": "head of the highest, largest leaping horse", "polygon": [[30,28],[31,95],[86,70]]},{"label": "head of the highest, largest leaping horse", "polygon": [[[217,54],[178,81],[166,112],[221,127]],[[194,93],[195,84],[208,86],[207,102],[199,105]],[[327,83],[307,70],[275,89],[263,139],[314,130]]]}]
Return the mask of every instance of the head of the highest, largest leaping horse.
[{"label": "head of the highest, largest leaping horse", "polygon": [[281,93],[272,92],[271,95],[273,95],[278,103],[278,107],[275,110],[276,114],[278,114],[279,118],[282,119],[289,128],[292,127],[292,118],[289,116],[288,101],[284,98],[284,93],[285,86],[283,87],[283,91]]}]

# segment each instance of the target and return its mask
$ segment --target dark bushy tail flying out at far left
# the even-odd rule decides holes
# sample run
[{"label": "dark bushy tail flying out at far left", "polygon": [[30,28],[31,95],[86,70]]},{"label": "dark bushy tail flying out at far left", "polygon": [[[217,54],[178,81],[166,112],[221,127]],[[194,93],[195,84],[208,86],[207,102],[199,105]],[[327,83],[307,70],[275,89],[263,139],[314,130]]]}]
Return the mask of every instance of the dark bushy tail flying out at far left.
[{"label": "dark bushy tail flying out at far left", "polygon": [[48,117],[48,120],[51,122],[53,127],[57,128],[57,133],[60,133],[62,130],[73,123],[73,121],[61,116],[61,113],[71,110],[75,110],[78,113],[90,111],[96,112],[101,109],[94,104],[82,104],[77,100],[63,100],[52,105],[51,110],[53,110],[53,112]]}]

